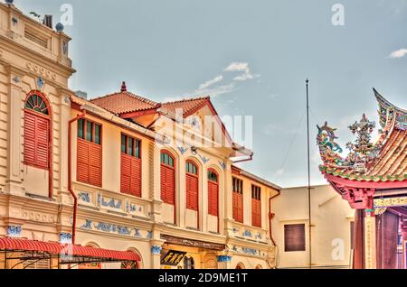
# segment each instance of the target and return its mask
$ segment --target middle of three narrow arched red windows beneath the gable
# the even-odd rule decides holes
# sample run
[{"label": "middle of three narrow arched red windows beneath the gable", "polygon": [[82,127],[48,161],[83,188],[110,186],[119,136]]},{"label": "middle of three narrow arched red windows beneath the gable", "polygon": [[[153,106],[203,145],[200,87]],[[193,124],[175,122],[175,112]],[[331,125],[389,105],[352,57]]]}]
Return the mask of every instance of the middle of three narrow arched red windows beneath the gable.
[{"label": "middle of three narrow arched red windows beneath the gable", "polygon": [[194,162],[185,162],[185,173],[186,208],[198,211],[199,177]]}]

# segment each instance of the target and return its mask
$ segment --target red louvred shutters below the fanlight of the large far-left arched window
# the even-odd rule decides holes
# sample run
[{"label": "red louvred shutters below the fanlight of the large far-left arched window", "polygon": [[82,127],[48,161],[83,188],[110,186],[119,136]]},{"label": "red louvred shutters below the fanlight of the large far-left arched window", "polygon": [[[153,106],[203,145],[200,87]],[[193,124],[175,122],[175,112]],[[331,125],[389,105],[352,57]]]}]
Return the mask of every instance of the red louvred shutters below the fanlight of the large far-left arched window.
[{"label": "red louvred shutters below the fanlight of the large far-left arched window", "polygon": [[50,120],[31,111],[24,112],[24,163],[49,168]]}]

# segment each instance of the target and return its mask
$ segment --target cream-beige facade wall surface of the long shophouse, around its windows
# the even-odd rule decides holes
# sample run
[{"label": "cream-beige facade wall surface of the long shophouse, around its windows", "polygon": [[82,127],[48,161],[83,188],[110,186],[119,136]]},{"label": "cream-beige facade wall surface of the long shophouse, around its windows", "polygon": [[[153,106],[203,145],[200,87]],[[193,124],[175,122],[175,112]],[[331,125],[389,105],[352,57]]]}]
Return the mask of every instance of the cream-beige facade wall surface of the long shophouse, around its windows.
[{"label": "cream-beige facade wall surface of the long shophouse, around its windows", "polygon": [[[13,24],[12,18],[17,23]],[[46,46],[27,39],[26,31],[45,39]],[[0,4],[0,236],[6,235],[8,226],[20,226],[20,236],[42,241],[58,241],[61,232],[71,233],[73,200],[68,190],[68,123],[80,112],[71,109],[72,91],[68,88],[68,79],[74,70],[68,54],[62,53],[62,45],[69,41],[65,34],[53,32],[19,10]],[[37,85],[39,78],[43,79],[43,87]],[[23,162],[24,100],[34,89],[41,90],[51,103],[52,199],[48,199],[49,171],[25,166]],[[207,107],[203,110],[206,114],[210,112]],[[232,220],[230,149],[202,148],[198,149],[199,154],[190,150],[182,154],[175,147],[159,146],[146,136],[113,125],[99,116],[89,114],[87,118],[102,125],[102,186],[76,181],[77,124],[74,123],[71,174],[79,203],[76,243],[134,250],[142,257],[144,268],[159,268],[159,255],[151,253],[151,246],[164,243],[161,234],[228,245],[235,250],[231,252],[232,257],[239,261],[245,259],[248,268],[264,264],[274,256],[268,237],[267,199],[276,191],[262,187],[262,227],[251,227],[251,180],[244,180],[244,224],[235,223]],[[121,132],[142,140],[141,199],[120,193]],[[159,153],[163,148],[175,154],[175,222],[171,222],[173,207],[160,200]],[[193,160],[199,167],[199,218],[194,218],[196,212],[188,214],[185,208],[186,160]],[[208,216],[207,212],[207,171],[210,168],[219,174],[219,218]],[[196,219],[200,230],[187,229],[196,227]],[[173,223],[175,227],[163,222]],[[246,246],[251,250],[245,251]],[[195,262],[216,265],[213,254],[203,253],[201,257],[201,261],[197,258]],[[119,264],[103,266],[117,268]]]}]

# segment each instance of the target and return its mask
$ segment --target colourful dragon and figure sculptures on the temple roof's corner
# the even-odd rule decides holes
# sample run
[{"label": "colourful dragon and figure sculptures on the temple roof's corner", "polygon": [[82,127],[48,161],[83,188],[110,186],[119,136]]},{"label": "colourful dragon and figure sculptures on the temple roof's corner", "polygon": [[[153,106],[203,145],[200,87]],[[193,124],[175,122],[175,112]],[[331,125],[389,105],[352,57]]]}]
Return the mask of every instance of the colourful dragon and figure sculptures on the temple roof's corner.
[{"label": "colourful dragon and figure sculptures on the temple roof's corner", "polygon": [[367,171],[367,166],[378,158],[382,149],[381,144],[371,142],[375,123],[367,119],[365,115],[359,122],[349,125],[352,134],[356,135],[355,143],[347,143],[346,148],[349,154],[346,158],[339,155],[343,150],[336,144],[337,139],[335,131],[325,123],[318,128],[317,144],[324,165],[331,168],[348,169],[359,174]]}]

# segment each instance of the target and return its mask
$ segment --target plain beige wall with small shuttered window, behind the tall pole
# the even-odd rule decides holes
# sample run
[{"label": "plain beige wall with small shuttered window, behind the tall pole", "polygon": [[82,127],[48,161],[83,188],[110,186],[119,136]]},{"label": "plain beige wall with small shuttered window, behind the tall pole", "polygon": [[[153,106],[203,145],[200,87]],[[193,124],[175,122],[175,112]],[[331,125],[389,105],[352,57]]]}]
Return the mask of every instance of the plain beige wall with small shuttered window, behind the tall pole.
[{"label": "plain beige wall with small shuttered window, behind the tall pole", "polygon": [[[323,185],[312,188],[311,210],[313,268],[348,268],[353,209],[335,190]],[[281,190],[281,195],[272,200],[272,211],[275,213],[272,232],[278,246],[278,268],[308,268],[308,188]],[[305,224],[306,251],[285,252],[284,226],[289,224]]]}]

